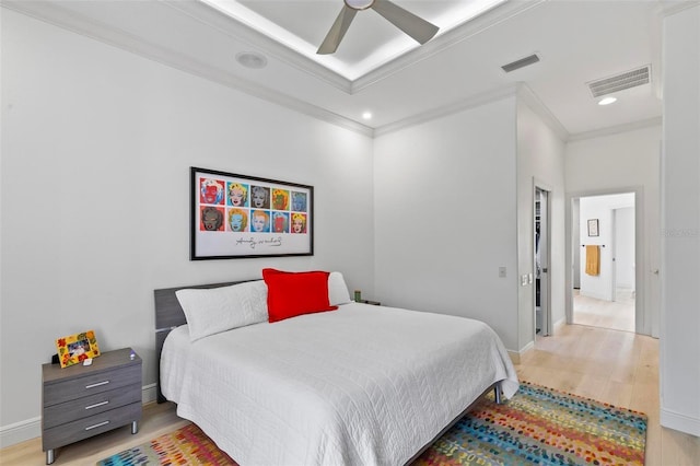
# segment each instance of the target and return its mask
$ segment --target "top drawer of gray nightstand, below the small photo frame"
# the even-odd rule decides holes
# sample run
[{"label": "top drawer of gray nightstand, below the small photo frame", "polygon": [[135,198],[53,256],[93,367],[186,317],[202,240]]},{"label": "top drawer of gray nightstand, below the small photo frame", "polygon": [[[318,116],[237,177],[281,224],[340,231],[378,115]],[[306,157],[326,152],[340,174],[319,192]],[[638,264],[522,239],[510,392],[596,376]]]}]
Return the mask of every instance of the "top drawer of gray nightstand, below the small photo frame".
[{"label": "top drawer of gray nightstand, below the small photo frame", "polygon": [[[46,385],[44,406],[70,401],[114,388],[141,383],[141,364],[102,371],[82,377],[69,378]],[[50,387],[50,389],[48,389]]]}]

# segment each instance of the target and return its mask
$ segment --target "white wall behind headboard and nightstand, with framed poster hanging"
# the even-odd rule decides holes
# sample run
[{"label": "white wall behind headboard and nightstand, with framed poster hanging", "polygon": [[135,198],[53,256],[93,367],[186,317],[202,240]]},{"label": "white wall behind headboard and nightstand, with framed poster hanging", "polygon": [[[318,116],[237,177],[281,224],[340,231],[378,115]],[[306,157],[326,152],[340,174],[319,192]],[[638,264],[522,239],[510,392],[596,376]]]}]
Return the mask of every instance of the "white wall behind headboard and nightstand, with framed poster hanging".
[{"label": "white wall behind headboard and nightstand, with framed poster hanging", "polygon": [[[39,434],[57,337],[131,346],[155,382],[154,289],[275,266],[373,295],[370,138],[1,10],[4,441]],[[190,165],[313,185],[315,255],[189,261]]]}]

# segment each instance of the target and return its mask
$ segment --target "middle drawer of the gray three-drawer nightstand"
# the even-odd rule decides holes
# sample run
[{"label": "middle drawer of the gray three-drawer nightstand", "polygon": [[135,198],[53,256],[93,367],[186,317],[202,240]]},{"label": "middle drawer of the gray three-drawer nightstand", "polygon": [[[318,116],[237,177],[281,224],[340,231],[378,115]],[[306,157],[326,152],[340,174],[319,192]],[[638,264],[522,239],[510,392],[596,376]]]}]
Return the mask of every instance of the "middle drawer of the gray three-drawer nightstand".
[{"label": "middle drawer of the gray three-drawer nightstand", "polygon": [[139,384],[47,406],[44,408],[42,422],[44,429],[50,429],[137,401],[141,401],[141,386]]}]

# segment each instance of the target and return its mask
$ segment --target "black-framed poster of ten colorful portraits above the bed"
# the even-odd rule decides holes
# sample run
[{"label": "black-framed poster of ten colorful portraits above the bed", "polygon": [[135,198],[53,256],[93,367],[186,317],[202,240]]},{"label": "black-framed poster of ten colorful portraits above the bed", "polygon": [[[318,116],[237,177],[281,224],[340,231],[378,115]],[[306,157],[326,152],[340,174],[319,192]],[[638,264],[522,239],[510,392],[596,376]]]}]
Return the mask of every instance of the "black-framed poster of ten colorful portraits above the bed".
[{"label": "black-framed poster of ten colorful portraits above the bed", "polygon": [[190,167],[190,260],[314,254],[314,187]]}]

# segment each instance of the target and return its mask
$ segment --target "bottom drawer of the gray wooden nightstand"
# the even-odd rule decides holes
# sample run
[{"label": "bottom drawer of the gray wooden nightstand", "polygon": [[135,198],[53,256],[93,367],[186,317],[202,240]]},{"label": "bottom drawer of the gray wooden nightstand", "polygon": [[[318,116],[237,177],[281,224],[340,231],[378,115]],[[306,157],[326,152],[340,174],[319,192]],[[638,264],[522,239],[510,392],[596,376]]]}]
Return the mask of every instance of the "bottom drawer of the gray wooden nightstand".
[{"label": "bottom drawer of the gray wooden nightstand", "polygon": [[45,429],[42,435],[44,451],[57,448],[97,433],[126,426],[141,419],[141,400],[95,416]]}]

